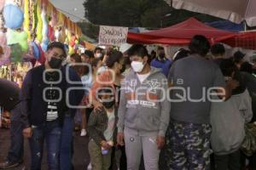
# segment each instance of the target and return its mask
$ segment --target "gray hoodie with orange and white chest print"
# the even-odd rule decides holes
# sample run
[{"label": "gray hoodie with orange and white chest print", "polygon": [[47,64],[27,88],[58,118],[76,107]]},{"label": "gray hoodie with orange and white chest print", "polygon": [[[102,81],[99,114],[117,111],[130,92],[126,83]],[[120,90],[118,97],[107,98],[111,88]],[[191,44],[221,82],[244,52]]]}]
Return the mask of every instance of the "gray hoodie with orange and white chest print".
[{"label": "gray hoodie with orange and white chest print", "polygon": [[122,82],[118,131],[128,128],[140,136],[165,136],[171,107],[167,88],[167,79],[160,69],[151,67],[143,83],[131,71]]}]

